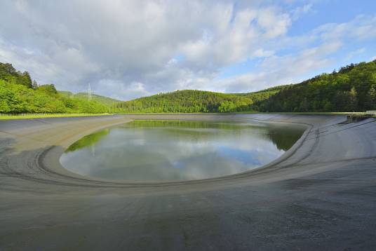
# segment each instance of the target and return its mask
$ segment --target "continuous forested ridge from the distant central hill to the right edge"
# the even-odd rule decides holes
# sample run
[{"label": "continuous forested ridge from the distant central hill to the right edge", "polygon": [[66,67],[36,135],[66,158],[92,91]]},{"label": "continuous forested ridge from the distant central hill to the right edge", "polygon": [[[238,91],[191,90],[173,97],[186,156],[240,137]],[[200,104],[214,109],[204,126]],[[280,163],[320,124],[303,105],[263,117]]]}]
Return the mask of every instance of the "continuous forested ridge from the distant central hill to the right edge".
[{"label": "continuous forested ridge from the distant central hill to the right edge", "polygon": [[376,109],[376,60],[255,93],[177,90],[116,104],[118,112],[365,111]]}]

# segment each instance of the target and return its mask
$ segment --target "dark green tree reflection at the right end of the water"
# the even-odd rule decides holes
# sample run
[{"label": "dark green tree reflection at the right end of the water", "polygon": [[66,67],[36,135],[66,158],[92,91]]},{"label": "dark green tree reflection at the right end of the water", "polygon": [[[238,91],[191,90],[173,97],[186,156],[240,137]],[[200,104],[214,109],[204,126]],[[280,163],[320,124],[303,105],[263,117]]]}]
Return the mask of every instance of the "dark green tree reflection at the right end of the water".
[{"label": "dark green tree reflection at the right end of the water", "polygon": [[287,151],[299,140],[304,128],[271,126],[266,136],[276,145],[278,150]]}]

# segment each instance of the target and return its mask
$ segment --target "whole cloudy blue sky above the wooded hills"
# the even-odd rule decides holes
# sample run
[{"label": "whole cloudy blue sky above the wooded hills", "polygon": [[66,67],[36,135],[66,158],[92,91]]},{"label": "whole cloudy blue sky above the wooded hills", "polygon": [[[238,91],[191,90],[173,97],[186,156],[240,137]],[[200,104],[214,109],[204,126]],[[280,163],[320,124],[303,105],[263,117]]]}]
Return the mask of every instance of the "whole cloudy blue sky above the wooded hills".
[{"label": "whole cloudy blue sky above the wooded hills", "polygon": [[247,93],[376,59],[374,0],[0,0],[0,62],[120,100]]}]

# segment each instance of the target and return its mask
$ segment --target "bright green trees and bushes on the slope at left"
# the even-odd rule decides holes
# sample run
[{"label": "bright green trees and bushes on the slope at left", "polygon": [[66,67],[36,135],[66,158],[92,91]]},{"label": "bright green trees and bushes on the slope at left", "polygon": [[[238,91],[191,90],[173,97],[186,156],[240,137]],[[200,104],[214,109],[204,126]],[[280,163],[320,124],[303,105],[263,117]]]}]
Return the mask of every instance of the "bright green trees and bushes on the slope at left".
[{"label": "bright green trees and bushes on the slope at left", "polygon": [[38,85],[28,72],[0,63],[0,113],[105,113],[109,108],[95,100],[58,93],[53,84]]}]

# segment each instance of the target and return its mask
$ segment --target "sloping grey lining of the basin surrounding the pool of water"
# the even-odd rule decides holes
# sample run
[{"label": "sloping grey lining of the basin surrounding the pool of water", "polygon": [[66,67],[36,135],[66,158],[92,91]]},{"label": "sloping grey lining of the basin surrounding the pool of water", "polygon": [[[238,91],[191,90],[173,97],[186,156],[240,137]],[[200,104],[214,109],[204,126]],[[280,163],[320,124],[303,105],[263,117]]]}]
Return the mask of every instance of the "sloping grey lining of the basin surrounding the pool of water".
[{"label": "sloping grey lining of the basin surrounding the pool of water", "polygon": [[[62,168],[84,135],[133,119],[306,126],[257,170],[121,183]],[[376,249],[376,122],[344,116],[166,114],[0,121],[0,250]]]}]

